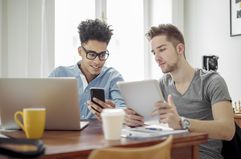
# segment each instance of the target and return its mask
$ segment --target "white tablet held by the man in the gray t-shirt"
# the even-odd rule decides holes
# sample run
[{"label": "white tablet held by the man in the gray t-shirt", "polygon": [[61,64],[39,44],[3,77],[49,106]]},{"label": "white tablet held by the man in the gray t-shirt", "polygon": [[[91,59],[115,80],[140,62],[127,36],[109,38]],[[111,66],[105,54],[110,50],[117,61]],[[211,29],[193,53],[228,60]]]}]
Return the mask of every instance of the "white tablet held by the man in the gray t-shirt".
[{"label": "white tablet held by the man in the gray t-shirt", "polygon": [[157,80],[118,82],[126,105],[144,117],[145,121],[156,119],[151,113],[157,101],[164,100]]}]

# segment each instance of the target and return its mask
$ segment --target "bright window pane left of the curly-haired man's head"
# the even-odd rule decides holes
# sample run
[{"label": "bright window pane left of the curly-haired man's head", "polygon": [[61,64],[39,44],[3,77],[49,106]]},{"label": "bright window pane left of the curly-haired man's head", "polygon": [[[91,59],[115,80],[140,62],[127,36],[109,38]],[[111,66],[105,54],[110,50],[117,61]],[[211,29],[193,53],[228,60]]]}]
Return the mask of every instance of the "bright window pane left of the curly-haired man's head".
[{"label": "bright window pane left of the curly-haired man's head", "polygon": [[55,1],[55,67],[69,66],[79,61],[78,25],[95,18],[95,0]]}]

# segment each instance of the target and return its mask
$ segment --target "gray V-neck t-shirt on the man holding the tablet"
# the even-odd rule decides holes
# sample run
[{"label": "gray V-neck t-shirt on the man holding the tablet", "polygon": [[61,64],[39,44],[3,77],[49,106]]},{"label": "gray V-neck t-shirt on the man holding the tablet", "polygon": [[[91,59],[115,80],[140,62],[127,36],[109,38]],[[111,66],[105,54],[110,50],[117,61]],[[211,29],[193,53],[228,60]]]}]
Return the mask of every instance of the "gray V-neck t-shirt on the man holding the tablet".
[{"label": "gray V-neck t-shirt on the man holding the tablet", "polygon": [[[197,69],[184,94],[177,91],[170,74],[161,78],[160,87],[164,99],[171,94],[179,115],[190,119],[213,120],[212,105],[231,101],[224,79],[213,71]],[[200,145],[200,158],[222,159],[221,150],[221,140],[209,139],[208,143]]]}]

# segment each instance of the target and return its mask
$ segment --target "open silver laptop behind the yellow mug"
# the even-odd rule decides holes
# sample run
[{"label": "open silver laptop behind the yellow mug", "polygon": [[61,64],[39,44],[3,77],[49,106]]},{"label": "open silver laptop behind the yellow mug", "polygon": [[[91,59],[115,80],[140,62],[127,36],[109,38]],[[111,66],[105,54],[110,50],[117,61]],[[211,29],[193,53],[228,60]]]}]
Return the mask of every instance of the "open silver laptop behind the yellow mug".
[{"label": "open silver laptop behind the yellow mug", "polygon": [[46,108],[46,130],[80,130],[75,78],[0,78],[0,128],[19,129],[14,113],[23,108]]}]

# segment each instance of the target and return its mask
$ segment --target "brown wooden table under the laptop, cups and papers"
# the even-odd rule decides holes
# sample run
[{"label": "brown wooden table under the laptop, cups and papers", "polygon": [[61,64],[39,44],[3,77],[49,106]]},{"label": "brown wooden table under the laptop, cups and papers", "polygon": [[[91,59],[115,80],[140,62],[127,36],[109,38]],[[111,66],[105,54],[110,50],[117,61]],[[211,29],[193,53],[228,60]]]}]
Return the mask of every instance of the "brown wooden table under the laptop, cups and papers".
[{"label": "brown wooden table under the laptop, cups and papers", "polygon": [[[22,131],[8,133],[13,137],[24,137]],[[82,131],[45,131],[43,141],[45,155],[41,159],[86,159],[94,149],[109,146],[141,147],[162,142],[165,137],[152,139],[126,139],[120,141],[104,140],[101,123],[91,121]],[[205,133],[175,135],[172,146],[172,159],[198,159],[199,145],[205,143]]]}]

